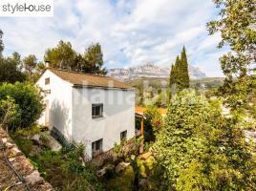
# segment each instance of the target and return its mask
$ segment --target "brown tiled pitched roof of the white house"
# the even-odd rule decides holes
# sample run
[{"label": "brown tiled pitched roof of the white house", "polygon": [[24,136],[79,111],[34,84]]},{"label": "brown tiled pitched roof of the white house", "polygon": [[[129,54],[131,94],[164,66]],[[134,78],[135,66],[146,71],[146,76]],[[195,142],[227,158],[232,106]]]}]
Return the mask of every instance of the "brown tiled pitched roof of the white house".
[{"label": "brown tiled pitched roof of the white house", "polygon": [[117,81],[110,76],[102,76],[95,74],[81,74],[77,72],[63,71],[49,68],[53,74],[56,74],[61,79],[72,83],[74,86],[99,87],[99,88],[117,88],[117,89],[132,89],[131,86],[123,82]]}]

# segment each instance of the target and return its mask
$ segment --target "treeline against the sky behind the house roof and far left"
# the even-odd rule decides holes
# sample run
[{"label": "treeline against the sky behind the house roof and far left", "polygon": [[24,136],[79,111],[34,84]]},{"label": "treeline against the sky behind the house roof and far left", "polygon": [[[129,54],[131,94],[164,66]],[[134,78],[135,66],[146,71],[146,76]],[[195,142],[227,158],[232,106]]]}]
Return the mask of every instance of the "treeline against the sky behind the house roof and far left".
[{"label": "treeline against the sky behind the house roof and far left", "polygon": [[[43,74],[46,65],[39,61],[34,54],[24,58],[19,53],[11,56],[3,55],[3,32],[0,30],[0,83],[28,81],[34,83]],[[87,74],[106,74],[103,67],[103,53],[100,44],[92,44],[84,53],[76,53],[70,42],[59,41],[52,49],[47,49],[44,61],[50,62],[50,67],[65,69]]]}]

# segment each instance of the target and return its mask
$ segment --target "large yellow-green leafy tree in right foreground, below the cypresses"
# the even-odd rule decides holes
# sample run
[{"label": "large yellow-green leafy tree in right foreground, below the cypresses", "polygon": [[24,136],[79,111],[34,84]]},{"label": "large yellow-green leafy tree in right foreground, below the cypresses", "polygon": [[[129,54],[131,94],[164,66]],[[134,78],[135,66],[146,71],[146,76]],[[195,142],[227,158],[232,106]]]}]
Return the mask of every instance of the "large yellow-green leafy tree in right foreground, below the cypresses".
[{"label": "large yellow-green leafy tree in right foreground, below the cypresses", "polygon": [[153,153],[169,190],[253,190],[250,149],[235,117],[181,92],[170,102]]}]

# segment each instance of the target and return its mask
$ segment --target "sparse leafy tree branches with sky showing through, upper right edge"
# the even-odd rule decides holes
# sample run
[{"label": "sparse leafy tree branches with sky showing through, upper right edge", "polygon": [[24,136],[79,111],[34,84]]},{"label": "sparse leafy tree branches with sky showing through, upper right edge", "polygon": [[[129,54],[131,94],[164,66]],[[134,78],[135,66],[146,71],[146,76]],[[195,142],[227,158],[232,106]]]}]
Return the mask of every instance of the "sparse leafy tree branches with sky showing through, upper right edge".
[{"label": "sparse leafy tree branches with sky showing through, upper right edge", "polygon": [[[232,110],[245,109],[255,89],[255,44],[256,18],[255,2],[250,0],[215,0],[219,12],[219,19],[207,24],[210,34],[221,32],[222,40],[219,48],[229,45],[231,52],[220,58],[222,70],[226,77],[224,86],[220,89],[226,100],[226,105]],[[254,67],[254,68],[253,68]],[[251,82],[248,82],[250,80]],[[251,84],[254,84],[252,87]],[[255,95],[254,95],[255,96]]]}]

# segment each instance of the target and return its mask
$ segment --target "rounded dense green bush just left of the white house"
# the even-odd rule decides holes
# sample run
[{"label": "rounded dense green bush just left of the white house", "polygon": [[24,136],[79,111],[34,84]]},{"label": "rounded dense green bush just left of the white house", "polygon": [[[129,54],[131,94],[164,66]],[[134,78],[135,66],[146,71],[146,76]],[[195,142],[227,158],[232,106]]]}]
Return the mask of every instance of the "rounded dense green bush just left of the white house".
[{"label": "rounded dense green bush just left of the white house", "polygon": [[10,128],[30,127],[40,117],[44,105],[40,91],[29,83],[16,82],[15,84],[4,83],[0,86],[0,100],[13,98],[18,105],[18,117],[11,121]]}]

